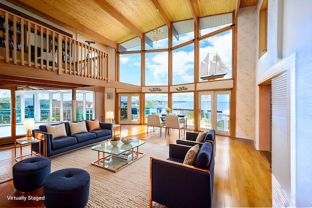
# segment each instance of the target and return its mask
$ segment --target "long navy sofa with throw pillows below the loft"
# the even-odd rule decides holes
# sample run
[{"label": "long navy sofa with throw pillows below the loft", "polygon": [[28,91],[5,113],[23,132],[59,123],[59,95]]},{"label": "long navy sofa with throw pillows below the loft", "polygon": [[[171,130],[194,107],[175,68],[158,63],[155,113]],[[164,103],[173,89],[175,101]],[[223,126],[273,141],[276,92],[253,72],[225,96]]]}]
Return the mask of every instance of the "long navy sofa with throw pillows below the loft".
[{"label": "long navy sofa with throw pillows below the loft", "polygon": [[[99,122],[100,130],[89,131],[88,124],[85,122],[88,132],[76,134],[70,134],[69,122],[59,122],[49,125],[59,125],[61,123],[65,124],[67,136],[53,138],[52,134],[47,133],[45,125],[40,125],[38,130],[33,130],[33,136],[35,138],[44,138],[45,140],[41,142],[40,151],[46,157],[51,158],[113,137],[113,124],[111,123]],[[32,144],[32,150],[39,152],[39,143]]]}]

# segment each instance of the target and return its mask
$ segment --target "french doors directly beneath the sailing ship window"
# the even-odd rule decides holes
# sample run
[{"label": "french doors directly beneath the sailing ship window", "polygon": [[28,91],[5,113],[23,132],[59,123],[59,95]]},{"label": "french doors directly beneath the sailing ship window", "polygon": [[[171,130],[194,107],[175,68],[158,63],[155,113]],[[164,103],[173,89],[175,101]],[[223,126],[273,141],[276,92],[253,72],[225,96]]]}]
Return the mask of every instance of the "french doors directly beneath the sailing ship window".
[{"label": "french doors directly beneath the sailing ship window", "polygon": [[230,91],[198,93],[199,131],[214,129],[219,135],[230,136],[230,96]]}]

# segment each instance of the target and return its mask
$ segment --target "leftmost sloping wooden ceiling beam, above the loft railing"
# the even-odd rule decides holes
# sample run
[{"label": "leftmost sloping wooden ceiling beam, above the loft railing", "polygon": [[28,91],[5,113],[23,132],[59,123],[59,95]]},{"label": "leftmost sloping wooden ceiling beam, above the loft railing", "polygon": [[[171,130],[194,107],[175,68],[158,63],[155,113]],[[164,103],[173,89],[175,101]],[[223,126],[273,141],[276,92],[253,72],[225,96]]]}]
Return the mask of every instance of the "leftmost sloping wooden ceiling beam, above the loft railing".
[{"label": "leftmost sloping wooden ceiling beam, above the loft railing", "polygon": [[[64,27],[66,29],[69,29],[75,33],[78,33],[86,38],[90,38],[99,44],[102,44],[104,46],[110,46],[112,48],[117,48],[117,43],[113,42],[112,40],[105,38],[104,36],[98,34],[95,31],[90,30],[87,26],[84,24],[81,24],[80,22],[64,15],[63,13],[59,12],[55,8],[49,8],[49,14],[44,13],[44,8],[46,7],[46,4],[43,1],[32,1],[32,0],[13,0],[11,3],[24,8],[43,19],[47,19],[55,24],[58,24],[61,27]],[[42,10],[37,10],[35,8],[41,8]]]}]

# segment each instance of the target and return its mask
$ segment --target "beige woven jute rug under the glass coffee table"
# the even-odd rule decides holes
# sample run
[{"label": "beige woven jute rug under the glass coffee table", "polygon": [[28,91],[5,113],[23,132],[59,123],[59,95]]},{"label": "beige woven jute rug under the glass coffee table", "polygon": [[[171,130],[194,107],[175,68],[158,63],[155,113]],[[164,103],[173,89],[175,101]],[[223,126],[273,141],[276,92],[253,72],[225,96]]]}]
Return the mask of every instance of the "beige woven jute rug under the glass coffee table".
[{"label": "beige woven jute rug under the glass coffee table", "polygon": [[91,164],[98,152],[86,147],[52,158],[51,172],[80,168],[90,174],[90,195],[86,208],[148,208],[150,156],[167,158],[169,149],[145,143],[139,147],[145,155],[117,173]]}]

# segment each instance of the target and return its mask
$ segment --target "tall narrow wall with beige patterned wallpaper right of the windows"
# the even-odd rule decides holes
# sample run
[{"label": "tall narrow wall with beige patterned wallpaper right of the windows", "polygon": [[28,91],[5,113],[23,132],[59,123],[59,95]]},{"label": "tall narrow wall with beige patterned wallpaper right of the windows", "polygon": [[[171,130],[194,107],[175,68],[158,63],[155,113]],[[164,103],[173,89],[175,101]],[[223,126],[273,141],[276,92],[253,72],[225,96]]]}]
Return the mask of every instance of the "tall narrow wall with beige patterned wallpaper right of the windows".
[{"label": "tall narrow wall with beige patterned wallpaper right of the windows", "polygon": [[237,24],[236,137],[254,140],[257,8],[240,8]]}]

